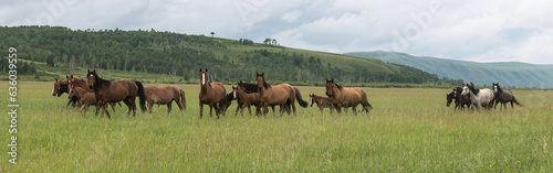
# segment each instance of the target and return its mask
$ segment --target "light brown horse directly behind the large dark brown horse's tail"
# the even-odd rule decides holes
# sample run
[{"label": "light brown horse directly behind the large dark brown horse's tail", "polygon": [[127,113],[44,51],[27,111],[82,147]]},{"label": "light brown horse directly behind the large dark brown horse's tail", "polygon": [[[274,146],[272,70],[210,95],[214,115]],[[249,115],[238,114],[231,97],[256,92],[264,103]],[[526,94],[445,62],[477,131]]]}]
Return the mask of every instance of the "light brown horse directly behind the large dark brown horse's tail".
[{"label": "light brown horse directly behind the large dark brown horse's tail", "polygon": [[181,112],[186,110],[185,91],[177,87],[147,87],[144,88],[144,94],[146,95],[146,101],[148,101],[149,113],[152,113],[152,107],[154,107],[154,104],[158,104],[167,105],[167,116],[169,116],[173,100],[177,102]]}]

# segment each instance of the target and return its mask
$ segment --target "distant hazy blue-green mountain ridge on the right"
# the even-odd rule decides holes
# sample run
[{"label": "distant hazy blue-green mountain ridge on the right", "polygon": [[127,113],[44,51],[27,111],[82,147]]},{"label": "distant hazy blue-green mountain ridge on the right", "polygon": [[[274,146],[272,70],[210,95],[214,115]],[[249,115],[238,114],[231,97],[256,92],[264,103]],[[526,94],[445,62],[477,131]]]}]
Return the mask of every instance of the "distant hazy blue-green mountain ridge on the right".
[{"label": "distant hazy blue-green mountain ridge on the right", "polygon": [[500,83],[507,87],[553,88],[553,65],[526,63],[476,63],[396,52],[352,52],[347,55],[377,58],[387,63],[407,65],[436,74],[440,78],[460,78],[466,83],[490,86]]}]

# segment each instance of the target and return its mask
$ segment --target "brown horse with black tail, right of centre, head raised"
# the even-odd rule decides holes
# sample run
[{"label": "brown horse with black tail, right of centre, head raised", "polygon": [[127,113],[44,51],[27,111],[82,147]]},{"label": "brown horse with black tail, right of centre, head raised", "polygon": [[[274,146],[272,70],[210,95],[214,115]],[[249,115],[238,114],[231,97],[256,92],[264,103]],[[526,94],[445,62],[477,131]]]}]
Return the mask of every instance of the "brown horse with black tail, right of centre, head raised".
[{"label": "brown horse with black tail, right of centre, head raised", "polygon": [[[281,116],[284,113],[283,107],[290,100],[290,105],[292,106],[292,110],[295,115],[295,99],[298,99],[298,104],[301,107],[306,108],[307,102],[302,99],[302,95],[300,90],[295,87],[292,87],[290,84],[280,84],[271,86],[265,82],[265,73],[257,74],[258,87],[259,87],[259,97],[261,105],[263,107],[263,115],[267,115],[269,111],[269,106],[271,105],[280,105],[281,107]],[[288,111],[290,113],[290,111]]]}]

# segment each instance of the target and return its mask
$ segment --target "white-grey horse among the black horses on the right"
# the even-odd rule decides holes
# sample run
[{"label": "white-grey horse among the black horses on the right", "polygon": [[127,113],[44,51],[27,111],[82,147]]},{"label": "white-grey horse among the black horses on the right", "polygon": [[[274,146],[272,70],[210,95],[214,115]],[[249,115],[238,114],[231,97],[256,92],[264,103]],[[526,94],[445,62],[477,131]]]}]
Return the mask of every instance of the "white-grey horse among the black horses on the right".
[{"label": "white-grey horse among the black horses on the right", "polygon": [[[472,84],[472,83],[471,83]],[[472,102],[472,108],[477,108],[480,110],[481,107],[491,108],[491,104],[493,101],[494,95],[491,89],[477,89],[474,85],[466,85],[462,87],[461,96],[469,95],[470,101]]]}]

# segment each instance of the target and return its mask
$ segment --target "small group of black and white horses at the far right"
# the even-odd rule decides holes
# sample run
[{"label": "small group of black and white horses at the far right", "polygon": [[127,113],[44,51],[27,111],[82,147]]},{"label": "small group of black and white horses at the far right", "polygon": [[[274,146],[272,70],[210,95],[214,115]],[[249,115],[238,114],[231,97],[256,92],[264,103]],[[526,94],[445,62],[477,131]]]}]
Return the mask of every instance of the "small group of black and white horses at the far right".
[{"label": "small group of black and white horses at the far right", "polygon": [[[493,89],[493,90],[492,90]],[[474,87],[474,84],[466,84],[462,88],[457,87],[450,94],[446,94],[447,104],[449,107],[451,102],[455,100],[455,109],[465,109],[472,108],[480,110],[481,108],[486,109],[495,109],[498,104],[500,108],[507,109],[507,104],[511,102],[511,108],[514,108],[514,104],[522,106],[511,90],[501,89],[499,83],[492,83],[492,89],[483,88],[479,89]]]}]

